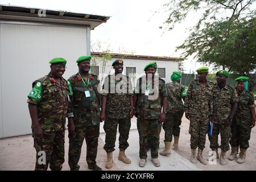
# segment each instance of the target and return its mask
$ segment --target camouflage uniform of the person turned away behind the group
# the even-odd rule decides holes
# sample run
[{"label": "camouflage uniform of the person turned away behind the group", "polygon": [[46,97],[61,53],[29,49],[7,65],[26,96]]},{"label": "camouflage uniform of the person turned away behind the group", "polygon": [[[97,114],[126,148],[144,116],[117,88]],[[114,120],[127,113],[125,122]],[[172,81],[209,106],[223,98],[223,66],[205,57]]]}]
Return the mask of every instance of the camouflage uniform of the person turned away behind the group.
[{"label": "camouflage uniform of the person turned away behind the group", "polygon": [[166,121],[163,123],[164,142],[172,142],[172,134],[175,137],[180,136],[181,118],[184,113],[181,93],[185,89],[178,82],[170,82],[166,84],[168,94],[168,107]]}]

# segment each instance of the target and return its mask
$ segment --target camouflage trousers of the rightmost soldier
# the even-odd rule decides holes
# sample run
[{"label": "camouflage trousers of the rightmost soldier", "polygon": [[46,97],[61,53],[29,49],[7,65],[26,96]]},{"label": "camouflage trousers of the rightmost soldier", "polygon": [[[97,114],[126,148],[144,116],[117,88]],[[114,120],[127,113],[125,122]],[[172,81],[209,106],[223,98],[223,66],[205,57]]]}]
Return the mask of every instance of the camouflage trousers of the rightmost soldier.
[{"label": "camouflage trousers of the rightmost soldier", "polygon": [[232,147],[249,148],[249,140],[251,137],[250,122],[237,125],[237,122],[233,121],[231,123],[231,134],[230,145]]}]

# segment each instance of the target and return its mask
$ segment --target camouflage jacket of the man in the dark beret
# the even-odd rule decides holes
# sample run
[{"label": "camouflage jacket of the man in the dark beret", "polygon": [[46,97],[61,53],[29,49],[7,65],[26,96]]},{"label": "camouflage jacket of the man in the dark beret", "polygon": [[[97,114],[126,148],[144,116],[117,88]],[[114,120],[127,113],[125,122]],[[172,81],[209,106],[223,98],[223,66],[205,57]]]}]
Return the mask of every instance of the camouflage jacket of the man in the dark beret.
[{"label": "camouflage jacket of the man in the dark beret", "polygon": [[107,96],[106,118],[122,119],[129,117],[130,96],[132,95],[133,85],[129,77],[126,75],[119,78],[115,75],[107,76],[102,88],[102,96]]}]

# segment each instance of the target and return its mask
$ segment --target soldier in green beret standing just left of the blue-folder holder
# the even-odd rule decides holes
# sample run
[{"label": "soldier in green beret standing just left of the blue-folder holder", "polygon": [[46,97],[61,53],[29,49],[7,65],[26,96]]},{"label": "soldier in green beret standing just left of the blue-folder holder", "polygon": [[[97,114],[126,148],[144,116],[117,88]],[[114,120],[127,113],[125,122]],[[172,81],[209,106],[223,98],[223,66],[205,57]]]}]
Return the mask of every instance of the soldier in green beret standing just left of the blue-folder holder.
[{"label": "soldier in green beret standing just left of the blue-folder holder", "polygon": [[196,164],[197,159],[203,164],[207,161],[203,158],[205,137],[208,132],[209,119],[212,120],[212,89],[213,82],[207,80],[208,68],[197,69],[198,80],[189,84],[187,97],[184,102],[185,117],[190,120],[189,134],[191,134],[191,162]]}]

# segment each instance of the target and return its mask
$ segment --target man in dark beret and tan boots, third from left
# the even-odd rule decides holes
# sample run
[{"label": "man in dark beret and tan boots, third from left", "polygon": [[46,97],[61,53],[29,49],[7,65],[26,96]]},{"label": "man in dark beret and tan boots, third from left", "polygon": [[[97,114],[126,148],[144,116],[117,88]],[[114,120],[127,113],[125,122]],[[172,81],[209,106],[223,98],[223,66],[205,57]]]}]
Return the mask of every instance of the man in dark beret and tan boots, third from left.
[{"label": "man in dark beret and tan boots, third from left", "polygon": [[120,134],[118,160],[125,164],[131,163],[131,160],[125,155],[125,150],[129,146],[127,140],[129,138],[131,118],[134,115],[133,85],[128,76],[122,75],[123,61],[121,59],[115,60],[112,66],[115,69],[115,73],[105,78],[101,106],[101,121],[105,121],[104,130],[106,137],[104,150],[107,154],[107,169],[113,167],[113,151],[115,150],[117,125]]}]

